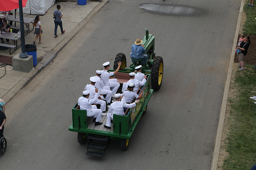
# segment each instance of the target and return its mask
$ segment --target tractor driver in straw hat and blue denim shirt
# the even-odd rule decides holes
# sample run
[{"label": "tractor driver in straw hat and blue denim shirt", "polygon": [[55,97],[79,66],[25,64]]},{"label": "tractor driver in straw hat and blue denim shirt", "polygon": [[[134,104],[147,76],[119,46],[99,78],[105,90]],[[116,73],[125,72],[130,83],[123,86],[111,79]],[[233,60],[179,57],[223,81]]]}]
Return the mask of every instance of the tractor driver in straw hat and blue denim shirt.
[{"label": "tractor driver in straw hat and blue denim shirt", "polygon": [[147,63],[148,55],[144,54],[145,53],[145,48],[144,45],[142,44],[143,41],[140,39],[137,39],[134,44],[132,45],[132,53],[130,54],[132,63],[136,63],[134,60],[142,60],[142,65],[145,65]]}]

